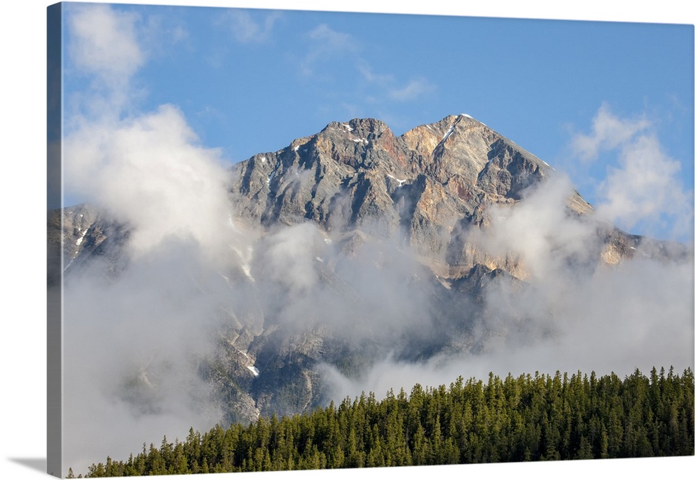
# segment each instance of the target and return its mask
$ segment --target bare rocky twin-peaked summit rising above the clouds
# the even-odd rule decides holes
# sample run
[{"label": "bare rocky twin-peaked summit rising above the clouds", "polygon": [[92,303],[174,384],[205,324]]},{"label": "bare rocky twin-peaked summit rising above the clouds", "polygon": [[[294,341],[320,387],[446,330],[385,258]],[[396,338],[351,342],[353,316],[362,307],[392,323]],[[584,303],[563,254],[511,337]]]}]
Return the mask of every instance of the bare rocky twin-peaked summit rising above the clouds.
[{"label": "bare rocky twin-peaked summit rising above the clouds", "polygon": [[[266,228],[310,220],[327,233],[402,233],[437,274],[460,276],[477,263],[515,268],[478,254],[461,231],[488,226],[489,206],[515,204],[551,171],[467,115],[400,137],[378,120],[353,119],[239,163],[232,194],[238,213]],[[567,206],[591,211],[578,194]]]}]

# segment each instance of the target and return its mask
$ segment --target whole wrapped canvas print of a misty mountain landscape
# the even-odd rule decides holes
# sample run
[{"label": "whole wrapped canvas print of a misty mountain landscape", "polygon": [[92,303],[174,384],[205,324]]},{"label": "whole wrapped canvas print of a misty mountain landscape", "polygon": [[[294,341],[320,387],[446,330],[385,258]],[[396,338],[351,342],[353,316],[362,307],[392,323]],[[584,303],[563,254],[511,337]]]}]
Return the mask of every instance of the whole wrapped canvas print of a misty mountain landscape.
[{"label": "whole wrapped canvas print of a misty mountain landscape", "polygon": [[47,14],[50,474],[694,454],[692,25]]}]

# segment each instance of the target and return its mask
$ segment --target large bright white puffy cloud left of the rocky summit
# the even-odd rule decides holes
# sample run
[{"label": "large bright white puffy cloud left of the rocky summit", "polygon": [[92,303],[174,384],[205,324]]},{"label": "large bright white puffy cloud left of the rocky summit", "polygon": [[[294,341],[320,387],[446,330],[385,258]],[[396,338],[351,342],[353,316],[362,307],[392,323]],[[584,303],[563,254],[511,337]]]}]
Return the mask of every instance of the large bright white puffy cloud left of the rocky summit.
[{"label": "large bright white puffy cloud left of the rocky summit", "polygon": [[134,254],[171,236],[221,254],[231,235],[226,175],[219,151],[196,140],[170,105],[122,122],[95,122],[65,140],[66,189],[132,226]]}]

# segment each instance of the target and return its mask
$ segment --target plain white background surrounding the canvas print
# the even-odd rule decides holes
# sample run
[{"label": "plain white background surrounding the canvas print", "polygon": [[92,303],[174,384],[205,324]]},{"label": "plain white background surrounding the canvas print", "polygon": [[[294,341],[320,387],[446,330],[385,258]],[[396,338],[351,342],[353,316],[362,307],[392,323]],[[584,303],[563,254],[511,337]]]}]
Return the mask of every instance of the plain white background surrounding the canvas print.
[{"label": "plain white background surrounding the canvas print", "polygon": [[[205,6],[255,8],[326,9],[325,1],[129,1]],[[448,0],[420,2],[353,0],[332,10],[394,13],[436,13],[486,17],[525,17],[554,19],[621,20],[693,24],[692,8],[681,0],[649,3],[633,1],[553,2],[527,0],[486,0],[476,5],[450,6]],[[461,2],[462,3],[462,2]],[[0,478],[46,478],[46,8],[51,2],[38,0],[5,3],[0,15],[2,35],[1,74],[2,135],[0,136],[0,195],[2,195],[0,235],[0,333],[2,376],[0,377],[1,451]],[[108,435],[108,432],[104,432]],[[99,459],[96,459],[99,460]],[[101,459],[103,460],[103,459]],[[692,474],[695,457],[639,459],[630,461],[573,461],[513,465],[460,465],[453,467],[411,467],[407,469],[363,469],[359,472],[302,472],[243,474],[243,478],[364,479],[402,476],[437,477],[521,474],[540,478],[599,478],[611,474],[646,478],[679,470]],[[680,472],[679,472],[680,473]],[[687,473],[686,473],[687,474]],[[235,475],[234,478],[237,478]],[[168,477],[174,478],[174,477]],[[216,475],[231,478],[231,474]]]}]

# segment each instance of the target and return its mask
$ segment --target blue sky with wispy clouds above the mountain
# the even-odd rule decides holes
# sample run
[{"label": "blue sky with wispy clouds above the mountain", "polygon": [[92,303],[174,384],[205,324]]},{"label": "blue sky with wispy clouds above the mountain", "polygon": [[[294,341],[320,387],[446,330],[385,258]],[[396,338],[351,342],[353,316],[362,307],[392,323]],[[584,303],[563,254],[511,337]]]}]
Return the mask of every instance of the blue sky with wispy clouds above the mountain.
[{"label": "blue sky with wispy clouds above the mountain", "polygon": [[[113,5],[97,57],[118,69],[75,48],[88,41],[70,24],[84,6],[65,9],[67,135],[72,119],[99,116],[95,98],[122,120],[171,104],[201,147],[235,163],[336,120],[375,117],[398,135],[468,113],[569,174],[619,226],[692,237],[692,25]],[[630,160],[637,145],[657,161]],[[645,189],[678,195],[653,205]],[[648,218],[615,211],[630,195]]]}]

